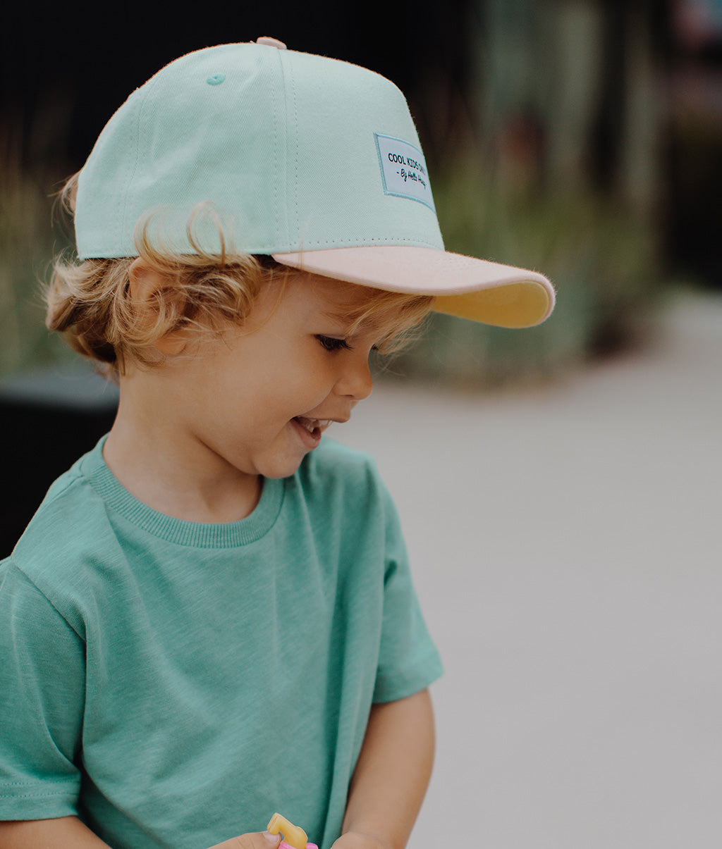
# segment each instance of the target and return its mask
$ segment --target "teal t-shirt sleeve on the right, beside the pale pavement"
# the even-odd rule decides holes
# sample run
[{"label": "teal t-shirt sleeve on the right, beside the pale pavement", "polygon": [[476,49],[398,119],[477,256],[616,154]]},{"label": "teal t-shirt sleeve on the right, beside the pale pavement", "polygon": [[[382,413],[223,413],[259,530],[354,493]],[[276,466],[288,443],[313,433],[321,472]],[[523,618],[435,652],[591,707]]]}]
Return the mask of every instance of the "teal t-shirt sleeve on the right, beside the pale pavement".
[{"label": "teal t-shirt sleeve on the right, beside the pale pavement", "polygon": [[415,593],[396,507],[385,487],[382,493],[386,514],[386,571],[375,703],[418,693],[443,673]]}]

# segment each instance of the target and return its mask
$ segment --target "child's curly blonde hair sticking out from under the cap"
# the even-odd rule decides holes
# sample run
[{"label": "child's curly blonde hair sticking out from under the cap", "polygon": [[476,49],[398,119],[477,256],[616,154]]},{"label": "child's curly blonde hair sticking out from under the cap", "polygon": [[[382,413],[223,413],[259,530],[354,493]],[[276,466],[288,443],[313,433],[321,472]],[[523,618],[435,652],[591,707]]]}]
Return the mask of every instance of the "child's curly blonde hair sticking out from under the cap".
[{"label": "child's curly blonde hair sticking out from under the cap", "polygon": [[[76,191],[77,174],[60,193],[61,204],[71,215]],[[163,357],[154,345],[166,334],[194,329],[221,335],[229,324],[242,325],[262,288],[274,279],[283,281],[294,269],[270,256],[228,250],[217,218],[221,252],[206,252],[196,238],[196,225],[209,215],[213,216],[212,209],[201,204],[189,218],[187,235],[195,254],[178,254],[152,237],[151,216],[138,222],[138,256],[168,281],[142,303],[133,297],[130,284],[130,267],[136,257],[69,261],[60,256],[46,290],[48,329],[64,334],[75,351],[117,380],[129,359],[144,366],[161,362]],[[431,297],[422,295],[365,286],[358,290],[358,302],[349,307],[351,330],[380,314],[386,321],[391,318],[397,331],[384,342],[384,352],[405,345],[432,304]]]}]

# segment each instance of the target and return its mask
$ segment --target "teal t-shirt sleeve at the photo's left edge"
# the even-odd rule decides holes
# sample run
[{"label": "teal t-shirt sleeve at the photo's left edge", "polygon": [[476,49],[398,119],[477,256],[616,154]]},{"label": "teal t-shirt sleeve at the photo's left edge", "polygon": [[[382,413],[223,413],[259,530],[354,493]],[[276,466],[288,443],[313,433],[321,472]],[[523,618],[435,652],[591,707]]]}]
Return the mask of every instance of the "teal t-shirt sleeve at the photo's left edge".
[{"label": "teal t-shirt sleeve at the photo's left edge", "polygon": [[76,814],[85,645],[9,561],[0,564],[0,819]]}]

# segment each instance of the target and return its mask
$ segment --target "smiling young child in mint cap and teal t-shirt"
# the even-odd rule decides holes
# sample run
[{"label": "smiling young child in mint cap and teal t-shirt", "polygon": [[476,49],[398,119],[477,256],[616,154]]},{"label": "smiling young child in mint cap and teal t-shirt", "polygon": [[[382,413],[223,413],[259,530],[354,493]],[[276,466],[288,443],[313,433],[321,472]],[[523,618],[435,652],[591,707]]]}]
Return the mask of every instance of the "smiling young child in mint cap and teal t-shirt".
[{"label": "smiling young child in mint cap and teal t-shirt", "polygon": [[549,282],[446,253],[403,95],[271,38],[159,71],[66,195],[48,325],[121,400],[0,571],[0,846],[260,849],[279,810],[400,849],[441,665],[373,461],[322,435],[430,308],[529,326]]}]

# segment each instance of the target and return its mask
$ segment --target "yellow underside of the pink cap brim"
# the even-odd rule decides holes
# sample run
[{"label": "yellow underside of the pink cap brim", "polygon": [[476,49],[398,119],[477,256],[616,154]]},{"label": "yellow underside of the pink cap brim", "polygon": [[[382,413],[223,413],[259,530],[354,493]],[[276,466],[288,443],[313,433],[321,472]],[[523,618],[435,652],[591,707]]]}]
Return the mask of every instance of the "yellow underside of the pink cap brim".
[{"label": "yellow underside of the pink cap brim", "polygon": [[542,284],[528,280],[465,295],[437,295],[432,309],[496,327],[522,328],[544,321],[550,307],[549,292]]}]

